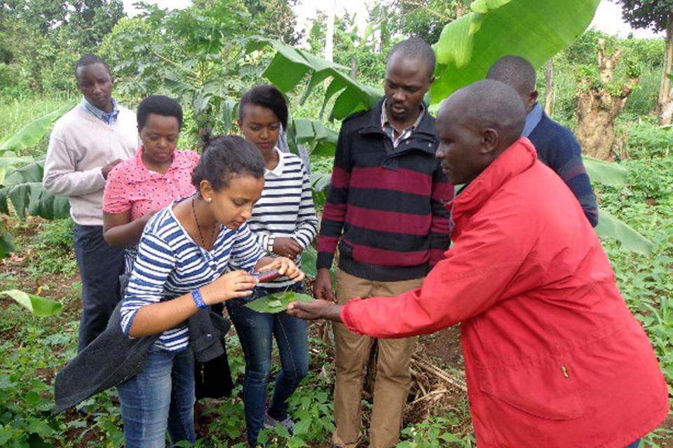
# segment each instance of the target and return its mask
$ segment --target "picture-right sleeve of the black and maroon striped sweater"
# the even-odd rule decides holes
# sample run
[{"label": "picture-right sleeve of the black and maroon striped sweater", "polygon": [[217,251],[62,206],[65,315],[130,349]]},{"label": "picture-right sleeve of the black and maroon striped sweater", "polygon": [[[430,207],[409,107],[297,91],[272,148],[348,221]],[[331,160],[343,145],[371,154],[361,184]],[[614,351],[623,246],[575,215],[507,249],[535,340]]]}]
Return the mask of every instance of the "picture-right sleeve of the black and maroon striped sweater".
[{"label": "picture-right sleeve of the black and maroon striped sweater", "polygon": [[433,173],[432,202],[433,219],[430,223],[430,266],[434,266],[444,258],[444,252],[451,244],[451,226],[449,225],[449,211],[444,204],[454,198],[454,186],[447,181],[442,167],[437,164]]}]

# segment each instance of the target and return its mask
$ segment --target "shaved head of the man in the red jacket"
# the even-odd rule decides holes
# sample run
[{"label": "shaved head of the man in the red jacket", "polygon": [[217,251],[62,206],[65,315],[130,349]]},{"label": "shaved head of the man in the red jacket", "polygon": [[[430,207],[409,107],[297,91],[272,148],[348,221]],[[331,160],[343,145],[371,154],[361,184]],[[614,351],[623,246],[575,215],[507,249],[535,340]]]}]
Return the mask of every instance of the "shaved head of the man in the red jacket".
[{"label": "shaved head of the man in the red jacket", "polygon": [[437,114],[437,158],[449,181],[473,181],[524,129],[526,110],[512,87],[481,80],[444,100]]}]

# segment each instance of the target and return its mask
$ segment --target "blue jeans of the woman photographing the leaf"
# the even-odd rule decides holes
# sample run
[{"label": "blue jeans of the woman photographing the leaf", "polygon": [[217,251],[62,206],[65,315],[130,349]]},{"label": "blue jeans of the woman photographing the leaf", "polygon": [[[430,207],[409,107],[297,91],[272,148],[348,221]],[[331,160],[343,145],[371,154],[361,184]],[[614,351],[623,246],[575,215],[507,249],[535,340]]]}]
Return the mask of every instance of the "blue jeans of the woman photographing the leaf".
[{"label": "blue jeans of the woman photographing the leaf", "polygon": [[196,442],[194,434],[194,356],[152,347],[145,368],[117,386],[126,448],[163,448]]}]

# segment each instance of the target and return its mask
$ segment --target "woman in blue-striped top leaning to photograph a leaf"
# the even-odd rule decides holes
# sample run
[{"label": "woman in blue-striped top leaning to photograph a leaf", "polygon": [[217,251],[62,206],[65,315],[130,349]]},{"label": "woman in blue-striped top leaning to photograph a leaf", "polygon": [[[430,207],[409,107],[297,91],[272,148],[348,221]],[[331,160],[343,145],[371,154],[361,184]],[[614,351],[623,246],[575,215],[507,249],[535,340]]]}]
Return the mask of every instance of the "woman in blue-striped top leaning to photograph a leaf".
[{"label": "woman in blue-striped top leaning to photograph a leaf", "polygon": [[128,337],[161,333],[144,369],[118,386],[127,448],[195,442],[194,357],[185,321],[199,309],[252,293],[257,270],[304,279],[290,258],[265,256],[246,221],[264,188],[257,148],[236,136],[207,141],[192,174],[196,194],[144,228],[121,308]]}]

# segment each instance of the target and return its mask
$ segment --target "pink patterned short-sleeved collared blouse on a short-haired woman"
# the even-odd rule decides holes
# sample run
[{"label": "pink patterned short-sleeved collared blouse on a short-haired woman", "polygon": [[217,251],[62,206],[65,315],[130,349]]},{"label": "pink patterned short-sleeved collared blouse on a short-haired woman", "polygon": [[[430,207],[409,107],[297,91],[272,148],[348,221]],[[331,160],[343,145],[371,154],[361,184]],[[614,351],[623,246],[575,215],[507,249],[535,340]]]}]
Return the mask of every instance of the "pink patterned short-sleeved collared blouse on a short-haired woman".
[{"label": "pink patterned short-sleeved collared blouse on a short-haired woman", "polygon": [[180,197],[189,196],[196,188],[191,185],[191,172],[199,155],[193,151],[173,153],[173,162],[165,174],[151,172],[142,163],[143,147],[135,157],[121,162],[107,176],[103,193],[103,211],[131,211],[135,221],[150,210],[160,210]]}]

